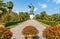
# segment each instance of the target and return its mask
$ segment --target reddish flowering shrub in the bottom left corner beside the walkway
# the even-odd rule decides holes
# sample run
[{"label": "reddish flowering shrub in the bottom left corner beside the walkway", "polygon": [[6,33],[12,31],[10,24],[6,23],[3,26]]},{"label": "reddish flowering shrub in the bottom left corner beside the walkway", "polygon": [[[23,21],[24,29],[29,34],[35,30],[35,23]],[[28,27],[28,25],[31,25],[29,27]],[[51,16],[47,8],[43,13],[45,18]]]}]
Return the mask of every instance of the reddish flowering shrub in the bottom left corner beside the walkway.
[{"label": "reddish flowering shrub in the bottom left corner beside the walkway", "polygon": [[0,39],[11,39],[12,37],[12,32],[7,29],[0,27]]}]

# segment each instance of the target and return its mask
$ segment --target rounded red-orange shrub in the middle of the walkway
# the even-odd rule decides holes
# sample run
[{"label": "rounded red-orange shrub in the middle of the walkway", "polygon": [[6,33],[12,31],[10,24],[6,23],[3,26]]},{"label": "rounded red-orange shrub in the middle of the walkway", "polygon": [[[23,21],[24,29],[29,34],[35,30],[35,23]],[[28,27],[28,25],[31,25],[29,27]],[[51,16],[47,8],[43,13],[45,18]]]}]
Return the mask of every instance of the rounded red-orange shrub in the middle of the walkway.
[{"label": "rounded red-orange shrub in the middle of the walkway", "polygon": [[23,35],[36,35],[38,30],[33,26],[27,26],[22,30]]}]

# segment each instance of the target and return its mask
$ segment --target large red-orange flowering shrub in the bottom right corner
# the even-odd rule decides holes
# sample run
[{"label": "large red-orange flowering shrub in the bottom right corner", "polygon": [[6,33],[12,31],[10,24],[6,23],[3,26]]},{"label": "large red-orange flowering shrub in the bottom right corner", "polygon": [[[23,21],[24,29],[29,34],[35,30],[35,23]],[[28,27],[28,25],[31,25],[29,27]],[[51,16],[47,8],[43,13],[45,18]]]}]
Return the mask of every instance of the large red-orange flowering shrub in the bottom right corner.
[{"label": "large red-orange flowering shrub in the bottom right corner", "polygon": [[44,29],[43,37],[46,39],[60,39],[60,26],[51,26]]}]

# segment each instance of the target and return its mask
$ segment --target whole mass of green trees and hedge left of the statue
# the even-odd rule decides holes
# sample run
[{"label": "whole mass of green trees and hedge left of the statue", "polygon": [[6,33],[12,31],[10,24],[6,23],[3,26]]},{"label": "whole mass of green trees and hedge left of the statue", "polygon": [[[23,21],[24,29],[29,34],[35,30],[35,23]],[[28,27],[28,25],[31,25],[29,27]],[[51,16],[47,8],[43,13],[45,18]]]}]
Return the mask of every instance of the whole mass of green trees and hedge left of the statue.
[{"label": "whole mass of green trees and hedge left of the statue", "polygon": [[12,12],[13,6],[12,1],[4,3],[0,0],[0,23],[5,23],[5,27],[16,25],[29,19],[28,12],[19,12],[19,14]]}]

